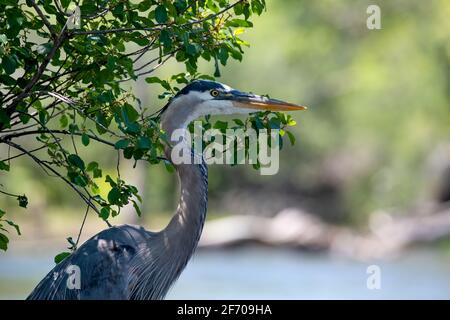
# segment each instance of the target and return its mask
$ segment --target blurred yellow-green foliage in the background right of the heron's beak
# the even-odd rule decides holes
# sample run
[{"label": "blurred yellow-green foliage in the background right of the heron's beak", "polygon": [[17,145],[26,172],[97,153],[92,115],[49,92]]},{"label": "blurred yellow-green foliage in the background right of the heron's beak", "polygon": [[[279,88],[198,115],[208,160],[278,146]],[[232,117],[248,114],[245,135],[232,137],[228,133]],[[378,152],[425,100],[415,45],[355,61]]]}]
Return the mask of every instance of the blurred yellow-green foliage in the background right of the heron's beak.
[{"label": "blurred yellow-green foliage in the background right of the heron's beak", "polygon": [[[366,27],[370,4],[380,6],[381,30]],[[312,212],[354,223],[429,199],[429,159],[450,141],[450,2],[267,6],[271,14],[246,38],[246,63],[224,78],[239,86],[251,75],[255,91],[278,83],[271,94],[309,106],[296,128],[302,147],[283,153],[271,190],[294,190]],[[264,181],[237,170],[240,183]],[[218,178],[227,177],[232,184]]]}]

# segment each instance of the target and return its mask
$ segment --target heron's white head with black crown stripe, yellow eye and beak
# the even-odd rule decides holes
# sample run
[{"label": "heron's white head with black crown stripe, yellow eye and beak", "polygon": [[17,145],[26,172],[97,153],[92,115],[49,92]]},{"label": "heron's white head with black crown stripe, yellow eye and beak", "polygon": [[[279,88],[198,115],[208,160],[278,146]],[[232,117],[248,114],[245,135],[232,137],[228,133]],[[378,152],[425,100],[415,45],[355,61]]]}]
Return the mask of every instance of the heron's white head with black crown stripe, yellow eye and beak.
[{"label": "heron's white head with black crown stripe, yellow eye and beak", "polygon": [[248,114],[257,111],[296,111],[306,107],[242,92],[220,82],[195,80],[180,90],[172,103],[180,102],[196,116]]}]

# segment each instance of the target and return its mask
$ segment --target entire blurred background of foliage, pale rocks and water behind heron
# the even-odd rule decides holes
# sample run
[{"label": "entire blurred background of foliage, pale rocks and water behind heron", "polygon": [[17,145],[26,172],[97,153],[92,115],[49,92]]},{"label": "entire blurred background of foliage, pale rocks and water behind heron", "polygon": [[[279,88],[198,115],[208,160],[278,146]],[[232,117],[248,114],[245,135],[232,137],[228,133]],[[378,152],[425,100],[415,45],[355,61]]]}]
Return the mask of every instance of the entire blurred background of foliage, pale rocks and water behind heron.
[{"label": "entire blurred background of foliage, pale rocks and water behind heron", "polygon": [[[381,8],[381,30],[366,27],[369,4]],[[293,114],[297,142],[280,152],[278,174],[210,167],[200,248],[169,298],[450,298],[450,2],[267,5],[245,35],[243,62],[229,62],[218,80],[309,109]],[[172,63],[159,75],[177,71]],[[144,81],[131,89],[143,105],[165,103]],[[89,152],[114,173],[108,152]],[[30,204],[0,199],[22,229],[0,253],[3,299],[31,292],[84,214],[75,194],[27,159],[12,171],[0,182]],[[175,175],[144,163],[122,162],[121,171],[140,187],[144,214],[130,209],[112,222],[163,228]],[[89,216],[82,239],[104,227]],[[367,285],[371,265],[379,289]]]}]

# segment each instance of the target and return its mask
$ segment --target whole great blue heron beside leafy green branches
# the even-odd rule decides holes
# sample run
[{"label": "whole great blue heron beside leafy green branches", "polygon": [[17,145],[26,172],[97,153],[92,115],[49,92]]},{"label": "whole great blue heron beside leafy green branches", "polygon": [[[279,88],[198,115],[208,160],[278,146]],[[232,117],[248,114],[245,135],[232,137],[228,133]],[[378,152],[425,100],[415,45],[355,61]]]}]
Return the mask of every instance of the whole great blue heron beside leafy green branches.
[{"label": "whole great blue heron beside leafy green branches", "polygon": [[[248,114],[259,110],[293,111],[304,107],[196,80],[162,109],[168,137],[194,119],[210,114]],[[171,147],[166,156],[171,159]],[[205,221],[208,171],[201,164],[175,165],[180,200],[165,229],[151,232],[123,225],[101,231],[56,265],[28,299],[163,299],[195,248]],[[68,287],[68,269],[80,272],[80,287]],[[71,269],[76,271],[75,269]]]}]

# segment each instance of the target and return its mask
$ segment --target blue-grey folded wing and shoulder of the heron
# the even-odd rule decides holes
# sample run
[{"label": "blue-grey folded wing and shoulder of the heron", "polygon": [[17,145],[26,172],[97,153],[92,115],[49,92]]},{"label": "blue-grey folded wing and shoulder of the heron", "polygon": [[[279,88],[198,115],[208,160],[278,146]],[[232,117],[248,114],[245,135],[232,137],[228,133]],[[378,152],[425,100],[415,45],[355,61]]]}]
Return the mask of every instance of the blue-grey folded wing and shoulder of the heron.
[{"label": "blue-grey folded wing and shoulder of the heron", "polygon": [[[129,263],[152,236],[131,225],[99,232],[57,264],[28,299],[126,299]],[[67,289],[73,266],[80,272],[79,290]]]}]

